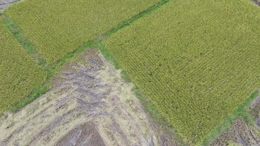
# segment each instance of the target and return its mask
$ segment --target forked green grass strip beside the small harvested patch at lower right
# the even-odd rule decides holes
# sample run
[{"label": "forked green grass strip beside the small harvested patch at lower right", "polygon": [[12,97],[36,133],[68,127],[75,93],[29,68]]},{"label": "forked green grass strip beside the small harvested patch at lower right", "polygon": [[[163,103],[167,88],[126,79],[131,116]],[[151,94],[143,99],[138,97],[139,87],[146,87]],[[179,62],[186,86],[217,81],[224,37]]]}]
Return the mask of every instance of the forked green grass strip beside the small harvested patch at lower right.
[{"label": "forked green grass strip beside the small harvested patch at lower right", "polygon": [[259,96],[259,94],[259,90],[254,92],[250,98],[248,98],[244,104],[240,105],[240,107],[230,117],[225,118],[223,123],[220,124],[216,130],[212,131],[210,136],[204,140],[202,146],[209,146],[223,130],[228,130],[228,128],[233,124],[234,120],[236,120],[238,117],[243,118],[249,125],[255,126],[254,120],[248,114],[247,110],[251,106],[252,102]]}]

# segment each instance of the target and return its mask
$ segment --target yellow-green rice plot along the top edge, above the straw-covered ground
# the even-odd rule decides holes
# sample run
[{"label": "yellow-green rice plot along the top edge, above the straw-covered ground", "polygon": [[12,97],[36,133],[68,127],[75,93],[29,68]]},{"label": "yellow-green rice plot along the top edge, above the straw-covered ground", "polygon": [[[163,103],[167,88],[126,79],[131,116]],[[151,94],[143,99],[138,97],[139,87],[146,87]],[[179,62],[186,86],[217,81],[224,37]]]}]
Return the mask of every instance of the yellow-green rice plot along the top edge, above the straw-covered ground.
[{"label": "yellow-green rice plot along the top edge, above the straw-covered ground", "polygon": [[4,11],[53,64],[161,0],[25,0]]}]

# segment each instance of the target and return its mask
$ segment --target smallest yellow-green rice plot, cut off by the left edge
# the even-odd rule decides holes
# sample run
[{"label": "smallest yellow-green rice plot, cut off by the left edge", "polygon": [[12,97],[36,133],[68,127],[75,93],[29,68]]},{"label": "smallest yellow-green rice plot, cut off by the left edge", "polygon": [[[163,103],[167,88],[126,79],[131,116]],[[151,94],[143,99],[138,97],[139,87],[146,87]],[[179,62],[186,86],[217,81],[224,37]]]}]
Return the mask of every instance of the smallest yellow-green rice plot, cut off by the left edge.
[{"label": "smallest yellow-green rice plot, cut off by the left edge", "polygon": [[0,113],[40,87],[46,81],[46,76],[0,18]]}]

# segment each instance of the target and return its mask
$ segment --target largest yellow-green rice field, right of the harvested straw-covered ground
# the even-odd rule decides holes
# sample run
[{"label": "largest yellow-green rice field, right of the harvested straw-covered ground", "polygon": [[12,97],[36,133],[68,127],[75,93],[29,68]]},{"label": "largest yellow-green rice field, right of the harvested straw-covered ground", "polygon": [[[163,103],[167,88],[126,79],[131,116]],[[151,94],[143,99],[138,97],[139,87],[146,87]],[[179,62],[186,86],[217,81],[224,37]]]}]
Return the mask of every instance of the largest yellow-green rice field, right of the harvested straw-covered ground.
[{"label": "largest yellow-green rice field, right of the harvested straw-covered ground", "polygon": [[184,141],[200,145],[260,86],[259,14],[246,0],[174,0],[105,48]]}]

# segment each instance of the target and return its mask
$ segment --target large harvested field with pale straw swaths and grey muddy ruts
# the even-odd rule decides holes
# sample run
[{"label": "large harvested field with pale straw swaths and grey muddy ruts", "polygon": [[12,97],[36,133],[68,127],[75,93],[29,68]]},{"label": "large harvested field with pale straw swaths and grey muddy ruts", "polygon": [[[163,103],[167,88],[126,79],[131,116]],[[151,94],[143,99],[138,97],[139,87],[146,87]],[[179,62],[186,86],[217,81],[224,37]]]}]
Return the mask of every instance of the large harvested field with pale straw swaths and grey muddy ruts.
[{"label": "large harvested field with pale straw swaths and grey muddy ruts", "polygon": [[0,146],[176,145],[143,110],[120,70],[100,54],[85,59],[90,66],[70,66],[63,83],[1,117]]}]

